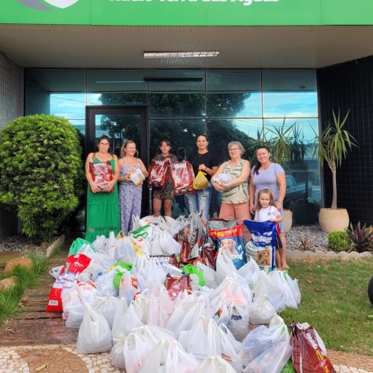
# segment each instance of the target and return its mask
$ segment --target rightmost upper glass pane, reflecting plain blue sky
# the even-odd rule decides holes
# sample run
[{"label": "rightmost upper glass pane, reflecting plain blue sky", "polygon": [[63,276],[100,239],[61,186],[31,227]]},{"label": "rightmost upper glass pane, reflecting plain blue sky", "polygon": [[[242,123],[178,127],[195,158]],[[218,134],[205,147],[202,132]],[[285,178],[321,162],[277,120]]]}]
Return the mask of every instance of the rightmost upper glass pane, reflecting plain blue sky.
[{"label": "rightmost upper glass pane, reflecting plain blue sky", "polygon": [[264,117],[317,117],[316,70],[263,70]]}]

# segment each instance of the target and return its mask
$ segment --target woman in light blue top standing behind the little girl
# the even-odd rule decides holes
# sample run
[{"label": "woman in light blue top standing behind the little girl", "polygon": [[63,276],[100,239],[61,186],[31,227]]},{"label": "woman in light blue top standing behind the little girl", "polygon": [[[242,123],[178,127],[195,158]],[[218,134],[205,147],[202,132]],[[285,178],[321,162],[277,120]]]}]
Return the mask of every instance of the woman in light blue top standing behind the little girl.
[{"label": "woman in light blue top standing behind the little girl", "polygon": [[[283,167],[278,163],[270,162],[270,151],[267,147],[256,149],[258,162],[251,170],[250,185],[248,187],[251,214],[255,214],[258,193],[262,189],[270,189],[275,200],[275,207],[283,215],[283,199],[286,193],[286,179]],[[283,248],[279,249],[282,270],[289,269],[286,262],[286,239],[283,233],[283,224],[280,223],[280,240]]]}]

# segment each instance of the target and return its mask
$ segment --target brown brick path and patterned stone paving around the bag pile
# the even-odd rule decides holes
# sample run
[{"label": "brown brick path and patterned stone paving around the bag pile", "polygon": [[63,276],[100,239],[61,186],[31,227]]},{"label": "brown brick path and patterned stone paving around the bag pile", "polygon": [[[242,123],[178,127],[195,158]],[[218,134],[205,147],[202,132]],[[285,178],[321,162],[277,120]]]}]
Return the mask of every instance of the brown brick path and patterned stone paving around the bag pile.
[{"label": "brown brick path and patterned stone paving around the bag pile", "polygon": [[[48,271],[63,265],[74,239],[66,239],[61,253],[50,259]],[[110,352],[78,354],[78,329],[65,327],[61,313],[45,312],[53,282],[46,273],[38,288],[26,291],[26,312],[14,315],[0,327],[0,373],[122,372],[112,366]],[[373,373],[373,357],[330,350],[328,357],[336,372]]]}]

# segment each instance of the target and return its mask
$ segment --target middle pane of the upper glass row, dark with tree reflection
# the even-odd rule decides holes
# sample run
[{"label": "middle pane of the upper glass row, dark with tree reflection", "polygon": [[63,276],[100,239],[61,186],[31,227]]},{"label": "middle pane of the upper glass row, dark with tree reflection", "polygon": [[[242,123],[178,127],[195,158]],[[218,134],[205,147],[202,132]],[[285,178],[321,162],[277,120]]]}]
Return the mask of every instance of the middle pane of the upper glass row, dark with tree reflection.
[{"label": "middle pane of the upper glass row, dark with tree reflection", "polygon": [[149,116],[205,117],[204,70],[149,70]]}]

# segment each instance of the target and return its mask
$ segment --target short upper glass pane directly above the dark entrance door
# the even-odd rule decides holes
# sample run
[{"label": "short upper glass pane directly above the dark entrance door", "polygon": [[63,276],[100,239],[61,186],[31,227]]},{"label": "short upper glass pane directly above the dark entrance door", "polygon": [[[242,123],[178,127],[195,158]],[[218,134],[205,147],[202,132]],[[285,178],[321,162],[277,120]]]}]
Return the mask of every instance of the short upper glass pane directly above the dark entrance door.
[{"label": "short upper glass pane directly above the dark entrance door", "polygon": [[88,70],[87,105],[147,104],[147,70]]}]

